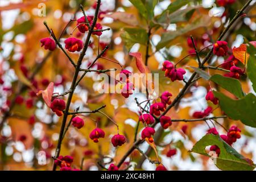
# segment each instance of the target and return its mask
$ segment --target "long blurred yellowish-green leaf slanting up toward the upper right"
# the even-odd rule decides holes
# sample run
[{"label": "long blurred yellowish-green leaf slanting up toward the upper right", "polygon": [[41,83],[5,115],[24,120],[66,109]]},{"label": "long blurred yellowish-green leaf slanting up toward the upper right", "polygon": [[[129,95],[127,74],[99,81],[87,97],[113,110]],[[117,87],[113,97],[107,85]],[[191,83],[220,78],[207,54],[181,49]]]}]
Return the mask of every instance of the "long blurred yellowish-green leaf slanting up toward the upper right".
[{"label": "long blurred yellowish-green leaf slanting up toward the upper right", "polygon": [[188,23],[184,27],[177,28],[176,31],[167,31],[161,36],[161,40],[156,46],[156,49],[159,50],[165,46],[168,46],[168,44],[171,43],[171,40],[174,40],[178,36],[181,36],[183,34],[187,34],[188,32],[192,30],[196,30],[200,27],[207,27],[210,23],[210,17],[209,16],[200,16],[199,18],[195,19],[193,22]]}]

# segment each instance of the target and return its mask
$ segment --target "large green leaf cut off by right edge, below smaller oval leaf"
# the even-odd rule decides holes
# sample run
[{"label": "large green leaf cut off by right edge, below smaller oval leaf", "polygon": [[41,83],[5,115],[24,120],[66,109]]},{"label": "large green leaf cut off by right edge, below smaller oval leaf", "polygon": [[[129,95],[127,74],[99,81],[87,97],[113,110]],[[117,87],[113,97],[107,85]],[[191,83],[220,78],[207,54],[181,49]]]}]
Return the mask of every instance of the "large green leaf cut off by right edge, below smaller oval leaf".
[{"label": "large green leaf cut off by right edge, below smaller oval leaf", "polygon": [[220,102],[221,109],[229,118],[241,120],[247,126],[256,127],[256,97],[249,93],[240,100],[232,100],[220,92],[213,91]]}]

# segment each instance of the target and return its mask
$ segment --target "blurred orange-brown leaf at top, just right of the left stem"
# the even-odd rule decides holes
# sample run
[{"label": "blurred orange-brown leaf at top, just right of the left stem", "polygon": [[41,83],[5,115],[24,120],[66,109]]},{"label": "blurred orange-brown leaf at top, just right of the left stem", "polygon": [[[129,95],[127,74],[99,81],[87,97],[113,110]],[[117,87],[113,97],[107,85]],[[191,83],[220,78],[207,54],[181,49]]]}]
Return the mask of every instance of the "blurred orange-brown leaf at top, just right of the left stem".
[{"label": "blurred orange-brown leaf at top, just right of the left stem", "polygon": [[101,15],[101,16],[113,18],[114,20],[119,20],[119,21],[129,24],[131,26],[138,25],[138,20],[134,14],[129,14],[129,13],[118,11],[118,12],[115,12],[112,14],[105,14],[105,15]]}]

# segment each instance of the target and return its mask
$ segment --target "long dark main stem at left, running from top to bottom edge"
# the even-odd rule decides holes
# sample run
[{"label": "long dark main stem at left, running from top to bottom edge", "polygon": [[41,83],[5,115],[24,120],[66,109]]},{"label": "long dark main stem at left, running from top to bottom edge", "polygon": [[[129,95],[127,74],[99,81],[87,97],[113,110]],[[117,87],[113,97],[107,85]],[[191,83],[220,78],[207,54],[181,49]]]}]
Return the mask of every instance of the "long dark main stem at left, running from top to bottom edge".
[{"label": "long dark main stem at left, running from top to bottom edge", "polygon": [[[70,93],[68,94],[68,100],[67,100],[67,104],[66,104],[66,107],[65,107],[63,120],[62,120],[62,123],[61,123],[59,140],[58,140],[57,148],[56,148],[56,151],[55,151],[55,158],[57,158],[60,155],[62,136],[63,136],[64,130],[65,130],[65,124],[67,122],[69,106],[71,105],[73,93],[74,93],[75,88],[76,88],[76,80],[77,80],[77,77],[79,75],[80,67],[81,67],[81,64],[82,64],[82,59],[84,59],[85,52],[87,51],[87,48],[89,46],[90,36],[92,35],[93,28],[94,28],[94,26],[96,25],[96,22],[97,22],[97,17],[98,17],[98,11],[100,9],[100,4],[101,4],[101,0],[98,0],[97,1],[97,7],[96,7],[96,10],[95,10],[95,14],[94,14],[94,18],[93,18],[92,26],[89,29],[87,38],[85,40],[84,48],[82,48],[82,52],[80,53],[79,59],[77,61],[77,65],[75,67],[76,70],[75,70],[75,73],[73,75],[73,80],[72,80],[71,87],[69,89]],[[52,170],[55,171],[56,167],[57,166],[55,164],[53,164],[53,169]]]}]

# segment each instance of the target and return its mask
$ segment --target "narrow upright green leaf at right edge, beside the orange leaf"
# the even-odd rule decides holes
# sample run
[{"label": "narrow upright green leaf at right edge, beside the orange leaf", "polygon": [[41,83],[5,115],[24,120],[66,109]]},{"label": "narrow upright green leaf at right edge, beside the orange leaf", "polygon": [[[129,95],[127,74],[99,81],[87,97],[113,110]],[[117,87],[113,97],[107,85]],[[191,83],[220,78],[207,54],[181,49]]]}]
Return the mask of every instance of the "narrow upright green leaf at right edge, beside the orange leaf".
[{"label": "narrow upright green leaf at right edge, beside the orange leaf", "polygon": [[247,73],[250,81],[253,83],[253,89],[256,92],[256,48],[249,43],[249,47],[247,47],[247,51],[250,54],[248,63],[247,63]]}]

